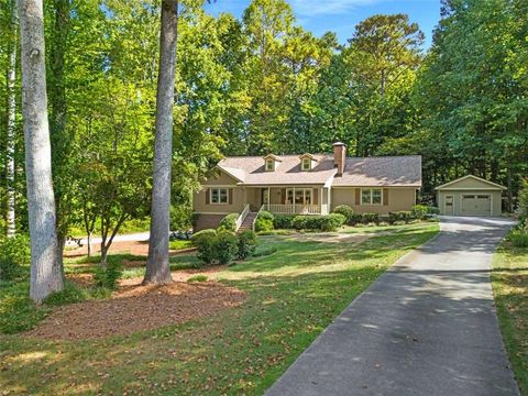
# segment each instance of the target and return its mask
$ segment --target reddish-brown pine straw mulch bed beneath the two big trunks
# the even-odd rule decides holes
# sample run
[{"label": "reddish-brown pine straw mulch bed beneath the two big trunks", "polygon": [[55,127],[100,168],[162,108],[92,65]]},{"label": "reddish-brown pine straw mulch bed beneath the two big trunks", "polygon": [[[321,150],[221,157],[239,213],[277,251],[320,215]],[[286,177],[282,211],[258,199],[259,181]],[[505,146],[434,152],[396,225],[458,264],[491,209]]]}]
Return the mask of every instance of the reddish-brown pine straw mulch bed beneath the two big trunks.
[{"label": "reddish-brown pine straw mulch bed beneath the two big trunks", "polygon": [[217,282],[141,285],[129,279],[108,300],[90,300],[54,309],[29,337],[80,340],[132,334],[182,323],[237,307],[245,294]]}]

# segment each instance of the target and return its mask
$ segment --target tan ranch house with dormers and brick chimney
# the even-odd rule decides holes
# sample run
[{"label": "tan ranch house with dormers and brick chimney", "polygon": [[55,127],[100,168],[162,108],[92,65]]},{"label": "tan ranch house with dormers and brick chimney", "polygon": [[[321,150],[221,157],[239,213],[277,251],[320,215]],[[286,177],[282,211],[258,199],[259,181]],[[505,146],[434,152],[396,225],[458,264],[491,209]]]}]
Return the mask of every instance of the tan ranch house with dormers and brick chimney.
[{"label": "tan ranch house with dormers and brick chimney", "polygon": [[328,215],[338,205],[355,212],[410,210],[421,187],[421,156],[348,157],[331,154],[227,157],[194,194],[195,229],[215,228],[229,213],[239,220],[261,209],[276,215]]}]

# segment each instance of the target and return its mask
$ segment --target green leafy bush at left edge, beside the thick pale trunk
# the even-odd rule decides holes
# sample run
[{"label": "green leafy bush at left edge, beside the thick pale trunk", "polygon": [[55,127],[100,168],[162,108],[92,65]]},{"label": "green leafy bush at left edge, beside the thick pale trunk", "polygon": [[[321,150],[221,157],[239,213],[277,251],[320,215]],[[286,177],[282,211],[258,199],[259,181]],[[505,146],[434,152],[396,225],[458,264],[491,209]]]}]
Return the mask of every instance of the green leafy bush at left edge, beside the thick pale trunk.
[{"label": "green leafy bush at left edge, beside the thick pale trunk", "polygon": [[[23,275],[31,261],[30,240],[16,235],[0,241],[0,279],[12,280]],[[29,271],[28,271],[29,274]]]}]

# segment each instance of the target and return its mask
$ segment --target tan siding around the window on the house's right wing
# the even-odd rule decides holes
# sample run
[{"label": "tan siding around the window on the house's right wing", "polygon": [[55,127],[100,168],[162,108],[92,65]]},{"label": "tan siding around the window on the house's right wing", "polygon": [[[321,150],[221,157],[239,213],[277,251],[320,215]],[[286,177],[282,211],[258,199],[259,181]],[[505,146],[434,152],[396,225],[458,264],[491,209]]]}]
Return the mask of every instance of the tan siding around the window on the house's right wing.
[{"label": "tan siding around the window on the house's right wing", "polygon": [[[371,188],[371,187],[364,187]],[[380,187],[372,187],[380,188]],[[348,205],[356,213],[378,213],[388,215],[389,212],[400,210],[411,210],[416,204],[416,188],[415,187],[385,187],[388,193],[388,205],[356,205],[356,191],[361,191],[361,187],[334,187],[331,194],[332,210],[339,205]],[[386,197],[386,194],[384,196]],[[385,204],[385,202],[384,202]]]}]

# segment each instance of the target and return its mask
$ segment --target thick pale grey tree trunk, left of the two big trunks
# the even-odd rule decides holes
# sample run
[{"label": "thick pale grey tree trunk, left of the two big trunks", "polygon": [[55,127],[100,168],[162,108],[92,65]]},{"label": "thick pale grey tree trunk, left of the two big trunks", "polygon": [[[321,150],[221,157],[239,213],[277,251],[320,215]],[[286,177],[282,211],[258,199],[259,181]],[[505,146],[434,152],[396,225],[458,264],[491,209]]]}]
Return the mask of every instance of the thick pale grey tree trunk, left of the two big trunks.
[{"label": "thick pale grey tree trunk, left of the two big trunks", "polygon": [[19,15],[31,239],[30,297],[42,301],[64,287],[55,230],[42,0],[19,0]]}]

